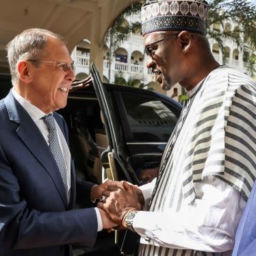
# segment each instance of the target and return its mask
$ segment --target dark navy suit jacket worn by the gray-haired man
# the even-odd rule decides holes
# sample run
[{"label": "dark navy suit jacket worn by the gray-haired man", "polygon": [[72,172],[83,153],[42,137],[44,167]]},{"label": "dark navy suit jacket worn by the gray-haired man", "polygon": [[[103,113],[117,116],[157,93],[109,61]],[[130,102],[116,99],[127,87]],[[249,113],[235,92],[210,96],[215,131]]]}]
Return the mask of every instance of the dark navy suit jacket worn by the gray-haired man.
[{"label": "dark navy suit jacket worn by the gray-haired man", "polygon": [[[64,119],[56,113],[54,117],[67,140]],[[47,142],[10,92],[0,101],[1,256],[64,256],[71,255],[68,244],[94,244],[94,209],[73,209],[76,190],[81,190],[84,200],[90,202],[93,184],[75,181],[73,162],[71,177],[68,205],[62,177]]]}]

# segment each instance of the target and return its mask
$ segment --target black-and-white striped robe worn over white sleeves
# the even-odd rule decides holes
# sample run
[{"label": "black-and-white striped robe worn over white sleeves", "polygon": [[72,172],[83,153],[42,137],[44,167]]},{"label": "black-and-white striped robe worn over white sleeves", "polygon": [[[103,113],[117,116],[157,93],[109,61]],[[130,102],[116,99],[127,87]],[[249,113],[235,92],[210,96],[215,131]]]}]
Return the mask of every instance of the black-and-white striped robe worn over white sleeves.
[{"label": "black-and-white striped robe worn over white sleeves", "polygon": [[[171,208],[179,213],[184,204],[193,205],[200,194],[194,184],[209,175],[225,181],[247,200],[256,176],[255,114],[256,86],[252,79],[227,66],[209,73],[185,103],[166,145],[149,211]],[[139,255],[215,253],[149,242],[141,244]]]}]

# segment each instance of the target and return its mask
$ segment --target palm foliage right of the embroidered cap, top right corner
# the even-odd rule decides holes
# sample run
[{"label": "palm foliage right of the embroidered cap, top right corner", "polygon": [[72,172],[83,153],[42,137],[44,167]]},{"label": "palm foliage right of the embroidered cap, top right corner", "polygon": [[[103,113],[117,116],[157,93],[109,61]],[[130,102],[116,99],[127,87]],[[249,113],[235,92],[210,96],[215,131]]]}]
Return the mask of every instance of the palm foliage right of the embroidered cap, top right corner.
[{"label": "palm foliage right of the embroidered cap, top right corner", "polygon": [[[250,51],[256,51],[256,5],[248,0],[212,0],[209,2],[209,16],[207,34],[209,38],[214,38],[218,42],[220,51],[225,63],[225,46],[226,38],[230,38],[237,44],[240,51],[244,51],[244,44],[250,46]],[[238,24],[234,29],[227,30],[225,24],[233,21]],[[211,25],[220,24],[222,33],[210,29]],[[255,58],[249,56],[245,62],[248,71],[253,75],[255,73]]]}]

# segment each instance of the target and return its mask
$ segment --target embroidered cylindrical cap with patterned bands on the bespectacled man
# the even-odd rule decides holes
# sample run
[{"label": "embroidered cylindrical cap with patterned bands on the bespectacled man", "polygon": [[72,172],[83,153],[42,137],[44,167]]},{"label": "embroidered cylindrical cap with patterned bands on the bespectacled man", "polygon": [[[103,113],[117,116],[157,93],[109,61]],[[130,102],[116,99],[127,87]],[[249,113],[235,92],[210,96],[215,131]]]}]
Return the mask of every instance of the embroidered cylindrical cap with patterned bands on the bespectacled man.
[{"label": "embroidered cylindrical cap with patterned bands on the bespectacled man", "polygon": [[142,6],[142,34],[188,30],[206,35],[209,4],[204,0],[147,1]]}]

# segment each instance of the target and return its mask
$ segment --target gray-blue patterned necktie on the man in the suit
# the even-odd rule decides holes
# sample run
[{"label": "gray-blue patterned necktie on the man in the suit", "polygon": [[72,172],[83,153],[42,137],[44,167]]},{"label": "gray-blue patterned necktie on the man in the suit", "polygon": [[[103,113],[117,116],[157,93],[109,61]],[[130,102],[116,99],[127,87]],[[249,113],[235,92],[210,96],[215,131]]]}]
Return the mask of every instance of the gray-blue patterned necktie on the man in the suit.
[{"label": "gray-blue patterned necktie on the man in the suit", "polygon": [[62,176],[62,181],[64,183],[66,193],[68,193],[68,183],[66,177],[66,165],[64,162],[64,157],[62,155],[62,150],[60,149],[59,140],[57,138],[57,129],[55,127],[55,121],[53,118],[53,114],[49,114],[48,116],[43,117],[44,123],[47,125],[49,131],[49,147],[51,149],[51,153],[55,159],[57,167],[60,170],[60,175]]}]

